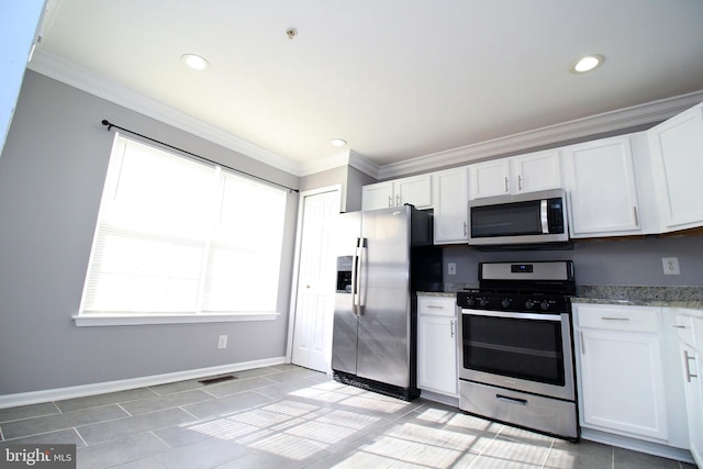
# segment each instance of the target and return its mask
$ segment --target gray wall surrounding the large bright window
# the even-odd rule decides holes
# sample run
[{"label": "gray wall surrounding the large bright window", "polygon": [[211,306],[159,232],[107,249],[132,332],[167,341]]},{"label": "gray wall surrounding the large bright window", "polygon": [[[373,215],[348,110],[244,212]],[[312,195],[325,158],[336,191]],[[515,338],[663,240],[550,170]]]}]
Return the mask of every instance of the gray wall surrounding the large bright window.
[{"label": "gray wall surrounding the large bright window", "polygon": [[[0,394],[284,356],[295,193],[288,197],[276,321],[76,327],[71,315],[114,136],[102,119],[287,186],[299,183],[295,176],[27,71],[0,157]],[[246,223],[256,230],[255,221]],[[216,349],[220,334],[228,335],[224,350]]]}]

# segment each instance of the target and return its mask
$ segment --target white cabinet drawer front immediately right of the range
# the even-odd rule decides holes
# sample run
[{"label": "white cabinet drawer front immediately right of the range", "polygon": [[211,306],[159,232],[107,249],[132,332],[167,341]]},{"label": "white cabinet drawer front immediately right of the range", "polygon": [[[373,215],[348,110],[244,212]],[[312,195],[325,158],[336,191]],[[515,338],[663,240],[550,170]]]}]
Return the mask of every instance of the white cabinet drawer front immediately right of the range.
[{"label": "white cabinet drawer front immediately right of the range", "polygon": [[656,308],[594,305],[574,308],[580,327],[656,334],[661,314]]}]

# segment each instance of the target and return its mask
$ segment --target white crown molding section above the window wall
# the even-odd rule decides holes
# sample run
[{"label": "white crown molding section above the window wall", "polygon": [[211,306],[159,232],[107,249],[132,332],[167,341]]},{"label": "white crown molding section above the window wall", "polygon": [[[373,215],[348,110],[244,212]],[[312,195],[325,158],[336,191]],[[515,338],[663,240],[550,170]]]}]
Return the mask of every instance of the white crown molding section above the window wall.
[{"label": "white crown molding section above the window wall", "polygon": [[32,62],[27,64],[27,68],[282,171],[299,177],[301,176],[300,165],[295,161],[254,145],[244,138],[239,138],[221,129],[207,124],[199,119],[177,111],[158,101],[148,99],[143,94],[131,91],[113,80],[79,67],[57,55],[37,49],[32,57]]}]

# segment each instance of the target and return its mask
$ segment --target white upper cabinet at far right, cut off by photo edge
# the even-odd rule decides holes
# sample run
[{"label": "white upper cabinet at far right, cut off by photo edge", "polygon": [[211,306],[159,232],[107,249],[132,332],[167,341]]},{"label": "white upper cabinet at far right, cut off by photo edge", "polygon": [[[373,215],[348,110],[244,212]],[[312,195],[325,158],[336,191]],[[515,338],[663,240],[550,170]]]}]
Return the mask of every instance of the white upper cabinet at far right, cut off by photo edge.
[{"label": "white upper cabinet at far right, cut off by photo edge", "polygon": [[703,103],[647,133],[662,231],[703,225]]}]

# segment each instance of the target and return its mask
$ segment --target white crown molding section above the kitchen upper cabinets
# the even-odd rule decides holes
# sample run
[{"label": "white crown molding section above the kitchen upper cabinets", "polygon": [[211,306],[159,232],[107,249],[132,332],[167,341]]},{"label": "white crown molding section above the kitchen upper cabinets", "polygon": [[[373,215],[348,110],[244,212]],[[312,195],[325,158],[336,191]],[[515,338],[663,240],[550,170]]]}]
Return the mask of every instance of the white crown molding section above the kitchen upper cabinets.
[{"label": "white crown molding section above the kitchen upper cabinets", "polygon": [[703,102],[703,90],[437,152],[381,166],[377,179],[427,172],[546,145],[557,145],[576,138],[624,131],[638,125],[655,125],[700,102]]}]

